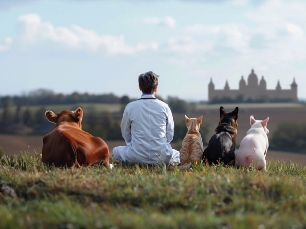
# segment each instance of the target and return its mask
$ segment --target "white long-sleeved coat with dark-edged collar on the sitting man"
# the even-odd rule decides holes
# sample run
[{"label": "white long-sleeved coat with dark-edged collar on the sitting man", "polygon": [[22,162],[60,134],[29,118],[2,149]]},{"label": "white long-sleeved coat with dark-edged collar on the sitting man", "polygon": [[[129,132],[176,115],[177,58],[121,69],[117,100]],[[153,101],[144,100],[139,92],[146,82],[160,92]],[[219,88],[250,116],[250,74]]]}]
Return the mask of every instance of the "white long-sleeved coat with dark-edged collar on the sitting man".
[{"label": "white long-sleeved coat with dark-edged collar on the sitting man", "polygon": [[133,158],[146,164],[158,162],[156,153],[168,163],[172,156],[170,145],[174,135],[174,122],[168,105],[153,95],[144,95],[129,103],[121,122],[122,136]]}]

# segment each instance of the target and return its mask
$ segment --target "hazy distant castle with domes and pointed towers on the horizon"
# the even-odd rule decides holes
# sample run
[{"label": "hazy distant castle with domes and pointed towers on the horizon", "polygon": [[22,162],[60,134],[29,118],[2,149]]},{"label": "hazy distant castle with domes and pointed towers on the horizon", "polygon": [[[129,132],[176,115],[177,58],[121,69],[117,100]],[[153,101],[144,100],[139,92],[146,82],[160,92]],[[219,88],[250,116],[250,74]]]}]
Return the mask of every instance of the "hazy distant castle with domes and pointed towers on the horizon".
[{"label": "hazy distant castle with domes and pointed towers on the horizon", "polygon": [[298,101],[297,99],[297,84],[293,78],[293,83],[291,84],[291,89],[282,89],[279,83],[277,82],[275,90],[267,90],[266,80],[263,79],[263,76],[258,84],[258,77],[252,69],[250,75],[248,76],[248,84],[246,84],[243,76],[239,81],[238,90],[230,90],[229,84],[226,80],[224,90],[215,90],[215,84],[212,82],[208,84],[208,101],[212,102],[213,100],[218,100],[222,98],[237,99],[242,98],[243,100],[292,100]]}]

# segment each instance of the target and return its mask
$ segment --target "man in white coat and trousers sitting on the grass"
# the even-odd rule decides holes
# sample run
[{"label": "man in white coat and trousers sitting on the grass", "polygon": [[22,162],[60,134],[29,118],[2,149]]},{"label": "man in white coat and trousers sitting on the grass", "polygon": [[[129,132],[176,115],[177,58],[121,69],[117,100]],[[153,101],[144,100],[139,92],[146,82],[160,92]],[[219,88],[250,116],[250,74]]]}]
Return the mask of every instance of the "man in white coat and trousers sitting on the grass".
[{"label": "man in white coat and trousers sitting on the grass", "polygon": [[170,142],[174,135],[174,121],[168,105],[155,98],[158,76],[146,72],[138,76],[141,98],[126,105],[121,132],[126,146],[113,150],[114,158],[125,163],[155,164],[156,154],[166,165],[180,162],[180,152]]}]

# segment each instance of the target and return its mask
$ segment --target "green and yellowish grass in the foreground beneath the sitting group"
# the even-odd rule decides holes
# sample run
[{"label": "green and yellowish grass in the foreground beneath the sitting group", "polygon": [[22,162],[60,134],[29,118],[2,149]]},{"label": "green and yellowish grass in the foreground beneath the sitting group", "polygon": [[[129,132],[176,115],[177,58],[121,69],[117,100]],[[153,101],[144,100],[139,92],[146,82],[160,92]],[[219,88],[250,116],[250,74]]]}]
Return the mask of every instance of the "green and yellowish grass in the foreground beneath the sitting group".
[{"label": "green and yellowish grass in the foreground beneath the sitting group", "polygon": [[0,228],[305,228],[306,167],[268,161],[267,172],[221,165],[165,170],[49,168],[41,155],[0,160]]}]

